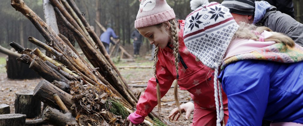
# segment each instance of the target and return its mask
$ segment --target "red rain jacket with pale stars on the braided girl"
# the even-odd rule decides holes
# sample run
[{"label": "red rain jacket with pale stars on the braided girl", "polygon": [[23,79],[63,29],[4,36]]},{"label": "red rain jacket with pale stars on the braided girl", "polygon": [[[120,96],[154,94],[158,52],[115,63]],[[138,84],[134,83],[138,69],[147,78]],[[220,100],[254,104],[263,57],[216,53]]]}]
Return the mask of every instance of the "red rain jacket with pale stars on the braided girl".
[{"label": "red rain jacket with pale stars on the braided girl", "polygon": [[[191,93],[191,98],[200,108],[216,109],[213,81],[214,71],[203,65],[201,61],[195,61],[195,56],[188,52],[183,41],[185,21],[179,20],[178,22],[180,25],[178,33],[180,54],[178,85],[181,90],[187,90]],[[164,49],[159,48],[156,71],[162,98],[170,89],[177,75],[172,45],[168,45]],[[158,104],[156,92],[156,80],[152,77],[149,79],[144,93],[139,98],[136,114],[146,117],[153,110]],[[226,94],[223,91],[222,93],[224,107],[227,107]]]}]

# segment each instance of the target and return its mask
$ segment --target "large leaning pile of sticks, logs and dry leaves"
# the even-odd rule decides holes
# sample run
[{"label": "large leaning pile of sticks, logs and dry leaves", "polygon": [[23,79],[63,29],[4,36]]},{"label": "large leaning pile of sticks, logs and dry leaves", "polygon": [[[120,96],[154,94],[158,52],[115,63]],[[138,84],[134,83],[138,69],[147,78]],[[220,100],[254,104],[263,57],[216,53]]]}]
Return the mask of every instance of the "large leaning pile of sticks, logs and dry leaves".
[{"label": "large leaning pile of sticks, logs and dry leaves", "polygon": [[[11,5],[35,25],[47,44],[33,37],[28,37],[28,40],[55,57],[47,57],[38,48],[30,50],[14,42],[10,44],[22,54],[17,60],[30,64],[30,68],[45,79],[39,82],[34,91],[34,97],[52,107],[45,109],[42,119],[54,125],[125,123],[125,116],[132,112],[138,101],[137,96],[128,89],[102,42],[90,29],[75,2],[50,2],[65,26],[74,33],[78,45],[92,66],[79,55],[65,36],[57,35],[22,0],[11,0]],[[55,98],[56,94],[58,97]],[[65,111],[58,113],[53,108]],[[58,118],[60,116],[64,119]],[[154,117],[150,114],[145,123],[151,124],[151,118]]]}]

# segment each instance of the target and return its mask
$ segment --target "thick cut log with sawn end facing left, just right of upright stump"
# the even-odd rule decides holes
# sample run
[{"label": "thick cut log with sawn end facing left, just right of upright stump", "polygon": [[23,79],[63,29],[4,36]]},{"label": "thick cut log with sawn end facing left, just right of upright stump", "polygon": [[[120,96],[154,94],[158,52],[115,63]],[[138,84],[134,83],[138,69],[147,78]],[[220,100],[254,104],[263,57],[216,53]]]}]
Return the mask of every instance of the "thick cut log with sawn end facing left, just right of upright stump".
[{"label": "thick cut log with sawn end facing left, just right of upright stump", "polygon": [[70,108],[72,104],[75,104],[76,108],[79,110],[82,108],[78,103],[75,103],[75,101],[72,100],[72,95],[62,91],[60,88],[56,87],[55,85],[52,85],[46,80],[41,80],[38,83],[34,90],[33,96],[42,101],[43,103],[58,108],[57,103],[55,103],[55,101],[53,100],[53,95],[55,94],[59,95],[60,99],[63,101],[67,108]]}]

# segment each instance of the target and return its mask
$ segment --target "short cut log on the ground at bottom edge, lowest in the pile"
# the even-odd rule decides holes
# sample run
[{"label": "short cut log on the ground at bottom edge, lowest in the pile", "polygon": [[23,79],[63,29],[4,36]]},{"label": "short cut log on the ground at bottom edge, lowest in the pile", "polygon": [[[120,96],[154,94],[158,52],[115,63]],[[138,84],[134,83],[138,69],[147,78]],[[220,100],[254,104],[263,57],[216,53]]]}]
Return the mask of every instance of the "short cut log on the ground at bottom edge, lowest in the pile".
[{"label": "short cut log on the ground at bottom edge, lowest in the pile", "polygon": [[42,114],[42,120],[46,121],[48,124],[52,124],[55,126],[78,126],[76,119],[71,116],[71,113],[63,114],[60,111],[46,107]]}]

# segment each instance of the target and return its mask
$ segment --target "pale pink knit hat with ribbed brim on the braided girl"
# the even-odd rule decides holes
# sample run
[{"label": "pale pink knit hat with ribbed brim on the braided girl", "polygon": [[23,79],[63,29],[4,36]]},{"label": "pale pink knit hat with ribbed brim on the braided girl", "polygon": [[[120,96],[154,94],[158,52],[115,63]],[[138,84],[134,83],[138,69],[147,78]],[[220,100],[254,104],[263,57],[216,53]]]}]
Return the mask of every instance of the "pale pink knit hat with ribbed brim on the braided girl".
[{"label": "pale pink knit hat with ribbed brim on the braided girl", "polygon": [[166,0],[139,0],[140,8],[135,20],[135,28],[157,25],[176,18],[174,10]]}]

